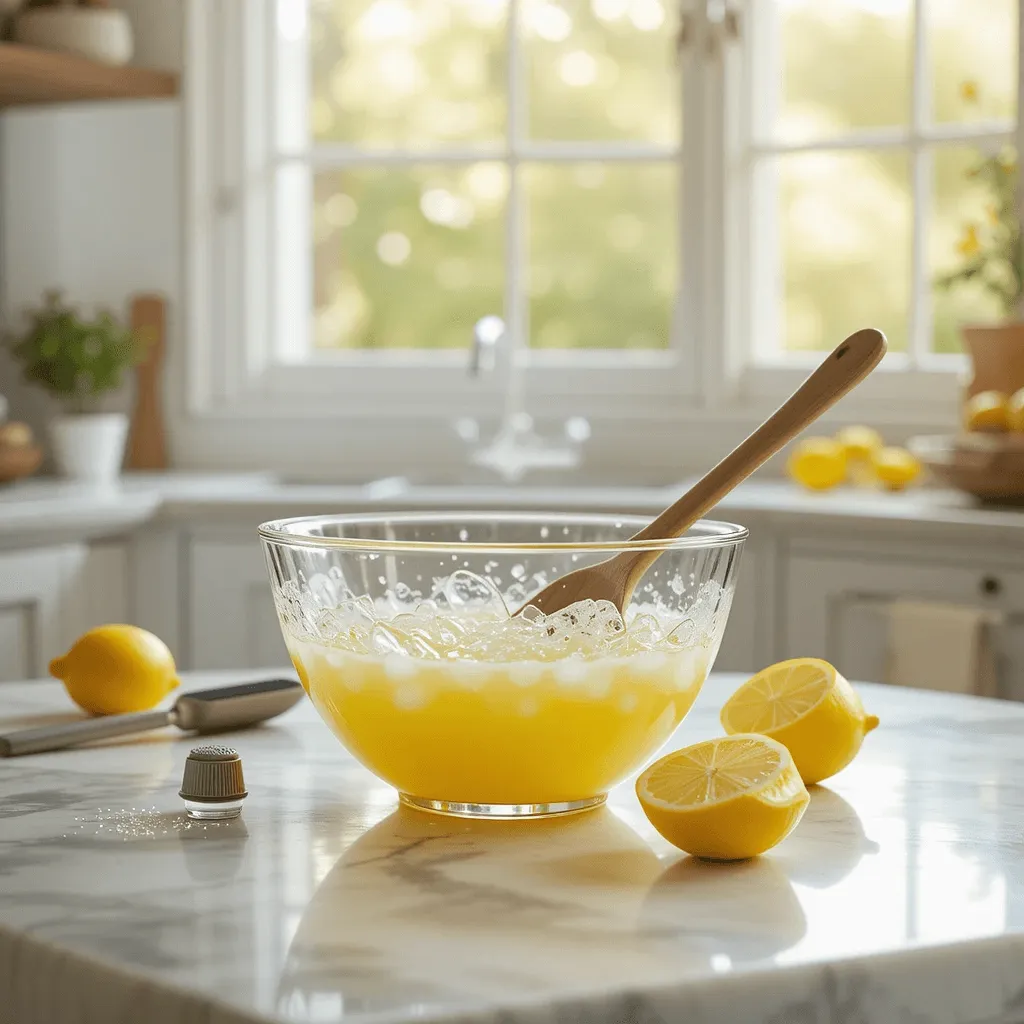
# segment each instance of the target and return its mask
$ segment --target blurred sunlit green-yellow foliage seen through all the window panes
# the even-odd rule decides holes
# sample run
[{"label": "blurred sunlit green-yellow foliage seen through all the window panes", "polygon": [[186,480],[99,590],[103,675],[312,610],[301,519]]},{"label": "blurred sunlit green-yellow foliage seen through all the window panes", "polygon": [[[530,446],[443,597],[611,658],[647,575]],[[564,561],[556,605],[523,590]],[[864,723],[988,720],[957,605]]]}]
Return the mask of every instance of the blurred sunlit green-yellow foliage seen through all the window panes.
[{"label": "blurred sunlit green-yellow foliage seen through all the window panes", "polygon": [[[777,95],[760,133],[827,140],[908,128],[910,0],[774,3]],[[522,0],[519,123],[539,141],[681,139],[674,4]],[[1016,0],[930,0],[924,108],[969,126],[1016,116]],[[505,0],[311,0],[310,125],[321,142],[362,147],[490,145],[509,118]],[[759,112],[760,113],[760,112]],[[965,223],[992,197],[969,175],[970,142],[929,151],[922,282],[911,281],[912,162],[907,150],[768,158],[758,170],[759,230],[777,254],[779,343],[828,348],[872,324],[907,346],[915,288],[957,265]],[[530,344],[659,348],[680,276],[676,162],[520,165],[520,284]],[[315,343],[459,348],[505,302],[509,176],[503,164],[325,172],[314,186]],[[774,198],[774,201],[773,199]],[[737,300],[743,297],[737,297]],[[957,325],[1002,314],[978,282],[936,290],[933,347]],[[685,316],[683,317],[685,327]]]}]

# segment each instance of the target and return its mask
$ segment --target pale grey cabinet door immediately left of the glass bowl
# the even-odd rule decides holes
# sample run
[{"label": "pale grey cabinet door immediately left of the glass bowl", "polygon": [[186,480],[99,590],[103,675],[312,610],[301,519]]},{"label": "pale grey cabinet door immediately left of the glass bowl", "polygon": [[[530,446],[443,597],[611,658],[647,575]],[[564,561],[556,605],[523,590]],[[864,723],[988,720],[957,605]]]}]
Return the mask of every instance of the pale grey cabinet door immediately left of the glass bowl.
[{"label": "pale grey cabinet door immediately left of the glass bowl", "polygon": [[188,568],[193,669],[280,669],[290,664],[255,540],[194,539]]}]

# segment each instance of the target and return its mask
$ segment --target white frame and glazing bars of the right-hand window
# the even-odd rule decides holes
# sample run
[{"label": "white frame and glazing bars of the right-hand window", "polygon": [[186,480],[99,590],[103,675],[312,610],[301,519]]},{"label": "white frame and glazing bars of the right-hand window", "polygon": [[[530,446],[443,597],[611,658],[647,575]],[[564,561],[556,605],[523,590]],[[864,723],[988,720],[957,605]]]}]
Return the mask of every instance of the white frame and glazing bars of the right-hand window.
[{"label": "white frame and glazing bars of the right-hand window", "polygon": [[[820,359],[821,353],[788,353],[784,357],[758,354],[758,324],[780,323],[781,296],[769,282],[779,262],[771,230],[759,228],[773,214],[770,206],[755,215],[758,165],[772,157],[796,153],[835,153],[857,150],[891,150],[907,155],[911,184],[911,266],[908,309],[908,351],[890,352],[879,370],[844,400],[846,409],[881,423],[944,425],[955,408],[968,369],[963,355],[928,350],[931,338],[927,230],[932,198],[932,155],[942,144],[1006,141],[1024,154],[1024,60],[1018,58],[1018,118],[1013,122],[932,123],[927,16],[930,0],[909,0],[912,17],[910,118],[905,127],[878,128],[837,134],[796,143],[773,142],[767,137],[770,113],[756,109],[757,96],[768,90],[777,53],[767,45],[773,37],[771,20],[777,9],[759,0],[737,0],[744,31],[738,46],[726,54],[720,117],[726,126],[724,160],[727,185],[726,232],[730,252],[725,263],[724,295],[741,295],[749,301],[739,310],[726,311],[727,358],[720,362],[733,400],[777,400],[797,387]],[[1019,0],[1018,54],[1024,52],[1024,0]],[[766,68],[765,66],[768,66]],[[773,79],[777,82],[777,75]],[[766,238],[766,236],[768,236]],[[742,254],[745,254],[742,255]],[[865,325],[868,326],[868,325]]]}]

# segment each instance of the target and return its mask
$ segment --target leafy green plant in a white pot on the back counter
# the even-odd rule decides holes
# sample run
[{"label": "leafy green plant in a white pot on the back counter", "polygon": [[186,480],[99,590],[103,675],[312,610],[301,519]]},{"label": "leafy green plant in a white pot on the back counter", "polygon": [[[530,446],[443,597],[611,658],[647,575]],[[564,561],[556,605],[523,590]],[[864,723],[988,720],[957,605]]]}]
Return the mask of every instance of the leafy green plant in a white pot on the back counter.
[{"label": "leafy green plant in a white pot on the back counter", "polygon": [[128,417],[100,409],[142,355],[132,333],[105,310],[88,319],[51,292],[29,310],[28,331],[9,340],[25,378],[51,392],[65,414],[50,423],[57,468],[75,480],[110,483],[124,460]]}]

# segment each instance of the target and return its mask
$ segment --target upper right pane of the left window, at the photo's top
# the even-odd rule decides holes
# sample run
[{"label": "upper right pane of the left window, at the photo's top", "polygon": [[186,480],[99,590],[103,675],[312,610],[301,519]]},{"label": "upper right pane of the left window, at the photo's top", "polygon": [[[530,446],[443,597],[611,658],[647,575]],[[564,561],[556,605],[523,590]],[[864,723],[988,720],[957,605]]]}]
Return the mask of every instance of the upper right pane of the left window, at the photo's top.
[{"label": "upper right pane of the left window, at the photo's top", "polygon": [[530,135],[678,140],[676,6],[670,0],[524,0]]}]

